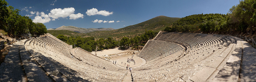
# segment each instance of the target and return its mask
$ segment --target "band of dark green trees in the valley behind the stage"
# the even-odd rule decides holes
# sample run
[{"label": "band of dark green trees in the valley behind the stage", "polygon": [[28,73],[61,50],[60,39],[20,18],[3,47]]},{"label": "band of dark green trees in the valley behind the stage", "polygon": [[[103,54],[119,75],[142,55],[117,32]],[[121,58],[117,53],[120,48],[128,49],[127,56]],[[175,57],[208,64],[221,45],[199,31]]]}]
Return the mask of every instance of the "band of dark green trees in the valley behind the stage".
[{"label": "band of dark green trees in the valley behind the stage", "polygon": [[117,41],[112,37],[108,37],[106,39],[100,38],[95,40],[94,37],[67,37],[64,35],[58,35],[57,38],[68,43],[69,45],[73,45],[74,47],[80,47],[86,51],[102,51],[104,49],[113,49],[116,47],[120,47],[121,49],[126,49],[130,45],[133,45],[133,48],[138,49],[138,45],[145,45],[148,39],[152,39],[157,34],[157,31],[145,31],[144,34],[140,36],[136,36],[134,38],[122,37],[121,40]]}]

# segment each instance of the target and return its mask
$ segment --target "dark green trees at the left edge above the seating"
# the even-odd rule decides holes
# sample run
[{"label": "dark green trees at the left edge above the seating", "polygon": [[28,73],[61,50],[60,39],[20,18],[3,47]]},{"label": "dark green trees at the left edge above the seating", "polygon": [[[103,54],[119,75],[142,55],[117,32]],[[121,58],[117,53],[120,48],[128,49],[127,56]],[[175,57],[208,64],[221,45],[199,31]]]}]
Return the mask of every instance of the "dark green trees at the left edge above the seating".
[{"label": "dark green trees at the left edge above the seating", "polygon": [[29,32],[35,36],[47,32],[43,23],[34,23],[29,17],[20,16],[20,10],[7,5],[5,0],[0,1],[0,29],[6,31],[6,35],[21,37]]}]

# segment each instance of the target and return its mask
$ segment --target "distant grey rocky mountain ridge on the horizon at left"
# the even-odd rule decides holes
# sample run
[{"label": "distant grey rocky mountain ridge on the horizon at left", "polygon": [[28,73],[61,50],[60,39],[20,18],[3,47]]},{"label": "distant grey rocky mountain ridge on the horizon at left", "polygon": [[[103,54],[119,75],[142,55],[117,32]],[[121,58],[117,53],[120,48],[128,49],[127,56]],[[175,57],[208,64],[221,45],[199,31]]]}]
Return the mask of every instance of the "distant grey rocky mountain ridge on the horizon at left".
[{"label": "distant grey rocky mountain ridge on the horizon at left", "polygon": [[75,27],[75,26],[61,26],[56,29],[47,29],[48,30],[68,30],[68,31],[74,31],[77,33],[90,33],[92,31],[111,31],[114,30],[113,28],[81,28],[81,27]]}]

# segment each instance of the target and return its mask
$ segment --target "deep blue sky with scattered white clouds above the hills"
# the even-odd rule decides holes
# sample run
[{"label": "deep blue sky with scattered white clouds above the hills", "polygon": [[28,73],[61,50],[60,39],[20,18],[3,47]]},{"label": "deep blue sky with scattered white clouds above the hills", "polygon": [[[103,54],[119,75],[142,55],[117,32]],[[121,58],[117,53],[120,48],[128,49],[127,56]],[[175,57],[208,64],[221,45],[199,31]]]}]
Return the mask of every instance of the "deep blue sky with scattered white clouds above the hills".
[{"label": "deep blue sky with scattered white clouds above the hills", "polygon": [[62,25],[119,29],[156,16],[182,18],[193,14],[227,14],[239,0],[6,0],[21,16],[46,28]]}]

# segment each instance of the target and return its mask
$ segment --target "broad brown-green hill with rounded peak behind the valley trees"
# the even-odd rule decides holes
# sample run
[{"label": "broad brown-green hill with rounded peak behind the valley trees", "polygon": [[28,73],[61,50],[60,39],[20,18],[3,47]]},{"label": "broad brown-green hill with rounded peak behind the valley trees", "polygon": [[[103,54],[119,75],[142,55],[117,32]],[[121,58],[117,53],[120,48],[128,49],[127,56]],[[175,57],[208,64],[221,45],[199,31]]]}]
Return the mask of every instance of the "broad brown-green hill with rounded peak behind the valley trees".
[{"label": "broad brown-green hill with rounded peak behind the valley trees", "polygon": [[116,39],[121,39],[122,37],[134,37],[136,35],[143,34],[146,30],[160,31],[165,28],[165,26],[172,26],[172,23],[179,20],[180,18],[170,18],[167,16],[157,16],[150,20],[138,23],[136,25],[130,25],[124,28],[115,29],[112,31],[94,31],[86,33],[91,37],[96,38],[107,38],[113,37]]}]

